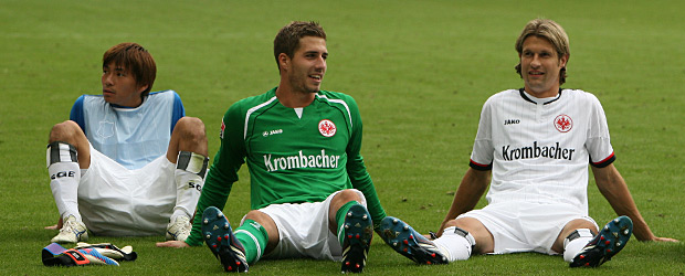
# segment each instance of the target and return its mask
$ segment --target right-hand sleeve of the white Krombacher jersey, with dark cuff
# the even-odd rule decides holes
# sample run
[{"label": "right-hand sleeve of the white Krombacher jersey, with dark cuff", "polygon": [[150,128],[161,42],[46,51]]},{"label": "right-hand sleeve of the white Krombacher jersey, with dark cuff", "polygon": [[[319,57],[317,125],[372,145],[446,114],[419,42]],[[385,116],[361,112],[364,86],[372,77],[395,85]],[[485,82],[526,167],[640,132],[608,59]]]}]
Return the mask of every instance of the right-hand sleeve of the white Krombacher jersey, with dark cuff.
[{"label": "right-hand sleeve of the white Krombacher jersey, with dark cuff", "polygon": [[615,160],[613,147],[609,137],[609,126],[607,115],[594,95],[590,96],[591,115],[589,121],[588,140],[586,147],[590,155],[590,164],[604,168]]}]

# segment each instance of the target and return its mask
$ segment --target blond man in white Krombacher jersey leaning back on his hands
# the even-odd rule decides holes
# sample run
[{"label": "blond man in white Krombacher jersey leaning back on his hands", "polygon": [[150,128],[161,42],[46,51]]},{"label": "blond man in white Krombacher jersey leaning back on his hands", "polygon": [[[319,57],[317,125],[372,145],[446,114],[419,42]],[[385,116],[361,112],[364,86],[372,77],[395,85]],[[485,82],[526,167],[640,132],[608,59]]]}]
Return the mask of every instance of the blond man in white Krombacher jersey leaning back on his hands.
[{"label": "blond man in white Krombacher jersey leaning back on his hands", "polygon": [[[404,255],[418,263],[424,262],[414,250],[423,247],[449,262],[473,253],[538,252],[563,254],[571,267],[597,267],[621,251],[633,231],[640,241],[674,242],[652,233],[613,166],[600,102],[590,93],[560,88],[570,56],[563,29],[533,20],[516,51],[525,87],[495,94],[483,106],[471,168],[439,238],[420,236],[415,246],[403,245],[414,231],[388,216],[381,230],[399,241],[394,248],[407,248]],[[600,192],[621,215],[602,230],[588,216],[588,160]],[[488,183],[488,205],[473,210]]]}]

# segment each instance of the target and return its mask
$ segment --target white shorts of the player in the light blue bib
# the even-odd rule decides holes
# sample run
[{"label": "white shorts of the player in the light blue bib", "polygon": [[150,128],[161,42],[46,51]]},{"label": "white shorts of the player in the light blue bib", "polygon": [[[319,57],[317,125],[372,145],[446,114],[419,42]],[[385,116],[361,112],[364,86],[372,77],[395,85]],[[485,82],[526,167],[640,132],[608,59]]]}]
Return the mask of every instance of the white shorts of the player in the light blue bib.
[{"label": "white shorts of the player in the light blue bib", "polygon": [[176,166],[166,156],[129,170],[91,146],[78,183],[78,212],[95,235],[165,234],[176,205]]}]

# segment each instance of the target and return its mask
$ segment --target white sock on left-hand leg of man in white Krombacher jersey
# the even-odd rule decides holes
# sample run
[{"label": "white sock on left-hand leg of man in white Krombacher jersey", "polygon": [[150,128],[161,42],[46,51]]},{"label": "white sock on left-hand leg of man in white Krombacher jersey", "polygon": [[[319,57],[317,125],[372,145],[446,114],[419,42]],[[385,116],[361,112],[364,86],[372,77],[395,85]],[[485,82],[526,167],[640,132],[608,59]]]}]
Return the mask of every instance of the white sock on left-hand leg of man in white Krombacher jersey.
[{"label": "white sock on left-hand leg of man in white Krombacher jersey", "polygon": [[449,262],[468,259],[468,257],[471,257],[471,251],[476,244],[471,233],[466,233],[466,235],[463,236],[461,235],[463,232],[456,233],[455,230],[455,226],[447,227],[442,232],[442,236],[433,241]]}]

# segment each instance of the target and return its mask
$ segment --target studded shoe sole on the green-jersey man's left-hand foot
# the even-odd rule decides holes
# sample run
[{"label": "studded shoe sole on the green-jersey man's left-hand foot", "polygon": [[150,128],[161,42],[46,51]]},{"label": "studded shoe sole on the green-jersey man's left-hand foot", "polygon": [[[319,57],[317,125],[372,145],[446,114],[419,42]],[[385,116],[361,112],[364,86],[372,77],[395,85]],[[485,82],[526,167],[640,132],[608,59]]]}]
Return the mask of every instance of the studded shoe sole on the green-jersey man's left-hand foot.
[{"label": "studded shoe sole on the green-jersey man's left-hand foot", "polygon": [[202,235],[204,243],[221,261],[225,272],[247,272],[247,263],[233,252],[233,250],[242,252],[245,250],[233,235],[231,223],[219,209],[210,206],[202,213]]}]

